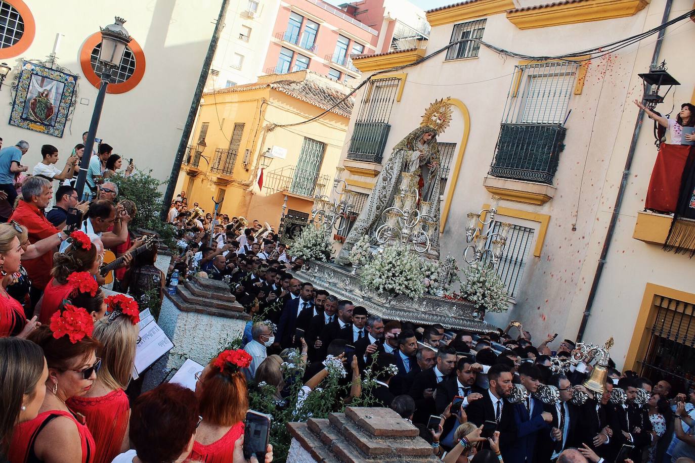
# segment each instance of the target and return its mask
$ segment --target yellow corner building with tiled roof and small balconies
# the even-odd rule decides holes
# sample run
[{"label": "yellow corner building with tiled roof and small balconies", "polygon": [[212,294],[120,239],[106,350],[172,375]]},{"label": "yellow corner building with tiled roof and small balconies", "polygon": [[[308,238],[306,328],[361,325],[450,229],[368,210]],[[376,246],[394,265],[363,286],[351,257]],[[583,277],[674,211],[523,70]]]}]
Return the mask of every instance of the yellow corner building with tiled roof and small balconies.
[{"label": "yellow corner building with tiled roof and small balconies", "polygon": [[212,212],[214,198],[223,214],[275,230],[285,202],[288,215],[307,218],[316,183],[332,182],[338,166],[352,110],[349,92],[297,71],[205,94],[177,192],[186,192],[189,208],[198,203]]}]

